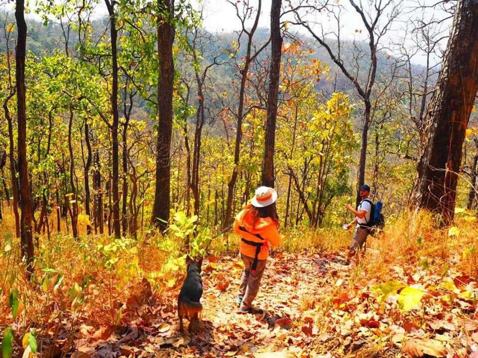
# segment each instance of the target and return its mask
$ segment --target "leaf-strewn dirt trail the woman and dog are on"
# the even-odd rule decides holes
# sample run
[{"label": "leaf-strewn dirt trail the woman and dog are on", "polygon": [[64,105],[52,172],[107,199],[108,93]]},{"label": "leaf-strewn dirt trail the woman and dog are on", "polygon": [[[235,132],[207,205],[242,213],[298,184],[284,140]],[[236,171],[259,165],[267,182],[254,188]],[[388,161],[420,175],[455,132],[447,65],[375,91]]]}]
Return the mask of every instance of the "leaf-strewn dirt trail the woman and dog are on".
[{"label": "leaf-strewn dirt trail the woman and dog are on", "polygon": [[169,311],[172,292],[171,304],[154,312],[159,318],[153,320],[152,332],[129,342],[130,352],[110,338],[112,350],[136,357],[331,357],[327,352],[340,345],[321,334],[314,307],[347,283],[354,266],[344,265],[343,257],[304,253],[269,258],[254,314],[237,313],[239,258],[214,261],[203,263],[202,327],[195,327],[190,337],[179,334],[176,312]]}]

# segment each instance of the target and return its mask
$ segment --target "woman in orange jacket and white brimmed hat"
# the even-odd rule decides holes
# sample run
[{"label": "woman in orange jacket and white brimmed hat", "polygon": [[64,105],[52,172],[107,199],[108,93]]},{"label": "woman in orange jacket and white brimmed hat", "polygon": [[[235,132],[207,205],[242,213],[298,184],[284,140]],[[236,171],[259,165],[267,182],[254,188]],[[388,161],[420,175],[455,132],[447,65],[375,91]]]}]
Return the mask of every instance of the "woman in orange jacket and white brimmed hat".
[{"label": "woman in orange jacket and white brimmed hat", "polygon": [[281,244],[277,232],[279,217],[274,202],[277,192],[268,186],[260,186],[250,204],[239,212],[234,220],[234,232],[241,236],[239,251],[244,271],[239,286],[239,313],[252,311],[252,301],[259,290],[260,280],[269,256],[269,245]]}]

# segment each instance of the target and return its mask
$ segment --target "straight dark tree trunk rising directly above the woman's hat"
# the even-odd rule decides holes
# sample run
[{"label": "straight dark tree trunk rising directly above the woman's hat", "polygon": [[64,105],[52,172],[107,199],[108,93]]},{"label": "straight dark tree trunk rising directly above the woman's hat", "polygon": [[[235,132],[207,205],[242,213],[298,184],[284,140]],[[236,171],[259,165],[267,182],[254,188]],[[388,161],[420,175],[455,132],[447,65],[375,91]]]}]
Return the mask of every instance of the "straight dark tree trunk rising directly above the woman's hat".
[{"label": "straight dark tree trunk rising directly above the woman's hat", "polygon": [[269,95],[267,98],[267,123],[265,126],[264,163],[262,165],[262,185],[274,186],[275,122],[277,118],[277,97],[279,92],[280,56],[282,36],[280,34],[281,0],[272,0],[270,5],[270,71]]}]

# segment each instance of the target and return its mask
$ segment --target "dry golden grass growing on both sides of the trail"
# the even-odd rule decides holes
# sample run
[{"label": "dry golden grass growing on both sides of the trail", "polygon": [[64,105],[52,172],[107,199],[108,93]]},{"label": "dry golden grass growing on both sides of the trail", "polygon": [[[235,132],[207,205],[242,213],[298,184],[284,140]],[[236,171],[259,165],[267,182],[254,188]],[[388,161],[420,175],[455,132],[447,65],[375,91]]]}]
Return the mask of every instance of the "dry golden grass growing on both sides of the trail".
[{"label": "dry golden grass growing on both sides of the trail", "polygon": [[[431,265],[440,271],[450,261],[459,258],[458,269],[470,275],[478,273],[476,220],[457,215],[458,235],[449,236],[448,228],[437,229],[433,216],[407,212],[395,222],[388,221],[384,232],[368,239],[371,254],[363,256],[352,271],[350,285],[368,284],[371,278],[391,279],[394,265]],[[160,299],[165,290],[177,289],[184,275],[183,243],[152,235],[136,240],[114,240],[107,235],[81,236],[52,234],[48,240],[41,235],[35,274],[28,281],[25,266],[19,258],[19,240],[14,238],[12,216],[6,210],[0,224],[0,326],[13,323],[8,304],[12,290],[18,292],[23,306],[16,318],[17,330],[32,324],[41,331],[58,332],[62,320],[70,322],[73,334],[81,324],[100,327],[107,324],[127,324],[131,301]],[[83,233],[83,231],[82,231]],[[280,231],[284,244],[278,250],[347,252],[352,232],[342,228],[312,230],[305,227]],[[10,242],[11,250],[5,252]],[[238,237],[231,234],[213,240],[210,250],[217,256],[236,253]],[[455,260],[456,261],[456,260]],[[61,275],[62,281],[58,283]],[[145,287],[143,278],[149,282]],[[76,288],[75,288],[76,287]],[[332,290],[335,287],[332,287]],[[343,287],[341,288],[343,289]],[[145,296],[148,296],[145,298]],[[331,296],[334,296],[331,291]],[[326,311],[330,302],[312,297],[301,298],[303,310]],[[64,329],[64,328],[63,328]]]}]

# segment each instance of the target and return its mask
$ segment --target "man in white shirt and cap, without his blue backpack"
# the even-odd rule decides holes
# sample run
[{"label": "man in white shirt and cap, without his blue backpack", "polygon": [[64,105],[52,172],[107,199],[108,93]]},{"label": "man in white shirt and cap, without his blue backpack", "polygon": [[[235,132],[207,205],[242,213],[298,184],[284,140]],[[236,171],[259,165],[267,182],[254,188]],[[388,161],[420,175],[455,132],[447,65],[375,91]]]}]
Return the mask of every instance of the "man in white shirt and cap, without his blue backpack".
[{"label": "man in white shirt and cap, without his blue backpack", "polygon": [[354,238],[352,239],[352,243],[349,248],[349,256],[353,256],[358,250],[364,249],[365,251],[365,243],[367,240],[367,236],[370,230],[370,216],[372,214],[372,201],[368,198],[370,194],[370,186],[364,184],[360,186],[360,203],[355,210],[352,205],[347,204],[345,207],[347,210],[350,210],[354,215],[355,218],[352,220],[350,224],[347,225],[347,230],[350,230],[351,227],[356,225]]}]

